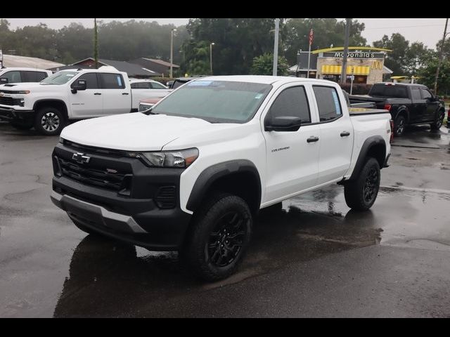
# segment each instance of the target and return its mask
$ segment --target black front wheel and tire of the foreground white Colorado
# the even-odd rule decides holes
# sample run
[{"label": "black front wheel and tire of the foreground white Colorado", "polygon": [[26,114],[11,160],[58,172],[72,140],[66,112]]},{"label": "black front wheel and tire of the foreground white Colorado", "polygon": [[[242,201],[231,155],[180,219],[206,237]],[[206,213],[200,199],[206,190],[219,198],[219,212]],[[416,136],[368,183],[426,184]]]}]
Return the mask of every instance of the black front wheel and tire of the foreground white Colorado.
[{"label": "black front wheel and tire of the foreground white Colorado", "polygon": [[252,234],[252,213],[236,195],[214,194],[194,215],[183,253],[198,277],[217,281],[238,267]]}]

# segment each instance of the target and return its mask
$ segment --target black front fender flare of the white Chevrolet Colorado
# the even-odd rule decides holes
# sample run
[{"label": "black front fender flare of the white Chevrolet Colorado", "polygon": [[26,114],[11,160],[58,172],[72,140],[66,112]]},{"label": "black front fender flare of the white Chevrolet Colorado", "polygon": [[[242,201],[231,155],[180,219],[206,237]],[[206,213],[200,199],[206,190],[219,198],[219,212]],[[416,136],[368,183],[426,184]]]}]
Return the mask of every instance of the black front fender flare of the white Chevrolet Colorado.
[{"label": "black front fender flare of the white Chevrolet Colorado", "polygon": [[195,180],[191,194],[189,195],[188,203],[186,204],[186,209],[189,211],[195,211],[195,209],[198,209],[203,197],[205,197],[207,191],[214,182],[220,178],[230,176],[235,173],[250,173],[255,177],[257,182],[257,205],[259,207],[262,194],[259,172],[252,161],[247,159],[237,159],[214,164],[203,170],[197,177],[197,180]]}]

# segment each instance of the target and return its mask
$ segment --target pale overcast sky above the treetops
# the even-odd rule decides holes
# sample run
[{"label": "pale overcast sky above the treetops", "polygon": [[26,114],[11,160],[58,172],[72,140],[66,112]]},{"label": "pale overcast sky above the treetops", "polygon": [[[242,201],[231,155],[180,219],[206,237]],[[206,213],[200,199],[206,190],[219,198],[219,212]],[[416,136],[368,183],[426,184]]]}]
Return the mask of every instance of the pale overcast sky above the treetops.
[{"label": "pale overcast sky above the treetops", "polygon": [[[25,25],[37,25],[39,22],[44,22],[51,28],[61,28],[64,25],[68,25],[70,22],[80,22],[86,27],[92,27],[94,25],[94,19],[81,18],[81,19],[6,19],[11,22],[11,28],[23,27]],[[131,20],[129,18],[120,19],[98,19],[104,22],[110,22],[112,20],[127,21]],[[189,19],[186,18],[136,18],[134,20],[145,20],[145,21],[158,21],[160,24],[173,23],[174,25],[186,25]],[[344,19],[338,19],[344,20]],[[373,41],[379,40],[384,34],[390,36],[392,33],[399,32],[410,42],[420,41],[425,44],[425,46],[435,48],[437,41],[442,38],[444,32],[445,19],[407,19],[407,18],[359,18],[359,22],[364,22],[366,24],[366,29],[364,29],[363,36],[367,39],[368,43],[371,44]],[[450,27],[449,27],[450,30]]]}]

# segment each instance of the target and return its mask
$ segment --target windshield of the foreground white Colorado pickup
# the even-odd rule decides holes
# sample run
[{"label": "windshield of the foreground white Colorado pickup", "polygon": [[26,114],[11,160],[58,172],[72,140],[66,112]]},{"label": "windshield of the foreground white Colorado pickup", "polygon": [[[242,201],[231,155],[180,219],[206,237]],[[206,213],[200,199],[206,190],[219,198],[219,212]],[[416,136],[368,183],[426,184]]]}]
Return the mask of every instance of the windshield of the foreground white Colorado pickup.
[{"label": "windshield of the foreground white Colorado pickup", "polygon": [[154,114],[196,117],[212,123],[245,123],[252,119],[270,84],[237,81],[191,81],[153,108]]}]

